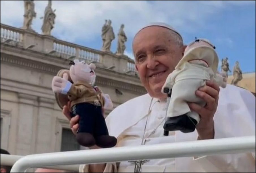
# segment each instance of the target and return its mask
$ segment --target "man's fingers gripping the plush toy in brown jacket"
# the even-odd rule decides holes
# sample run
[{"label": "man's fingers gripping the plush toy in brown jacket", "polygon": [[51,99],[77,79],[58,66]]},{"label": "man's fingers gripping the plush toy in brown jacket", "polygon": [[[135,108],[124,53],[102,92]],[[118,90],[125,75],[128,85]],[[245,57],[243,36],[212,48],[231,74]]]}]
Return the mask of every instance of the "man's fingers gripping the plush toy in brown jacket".
[{"label": "man's fingers gripping the plush toy in brown jacket", "polygon": [[67,119],[70,121],[69,126],[76,135],[76,132],[78,131],[79,128],[79,115],[76,115],[75,117],[70,116],[70,101],[68,101],[68,104],[63,107],[62,113],[67,117]]}]

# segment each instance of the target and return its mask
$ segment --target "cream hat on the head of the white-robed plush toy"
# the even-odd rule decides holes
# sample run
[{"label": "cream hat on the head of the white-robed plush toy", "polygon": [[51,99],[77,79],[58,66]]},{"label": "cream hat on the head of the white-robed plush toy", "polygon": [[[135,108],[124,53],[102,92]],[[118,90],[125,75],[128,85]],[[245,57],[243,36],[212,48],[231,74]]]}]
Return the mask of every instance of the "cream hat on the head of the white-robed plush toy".
[{"label": "cream hat on the head of the white-robed plush toy", "polygon": [[214,50],[215,47],[206,39],[196,39],[190,43],[185,51],[184,56],[178,62],[175,69],[179,68],[184,62],[190,60],[204,60],[214,73],[217,72],[219,58]]}]

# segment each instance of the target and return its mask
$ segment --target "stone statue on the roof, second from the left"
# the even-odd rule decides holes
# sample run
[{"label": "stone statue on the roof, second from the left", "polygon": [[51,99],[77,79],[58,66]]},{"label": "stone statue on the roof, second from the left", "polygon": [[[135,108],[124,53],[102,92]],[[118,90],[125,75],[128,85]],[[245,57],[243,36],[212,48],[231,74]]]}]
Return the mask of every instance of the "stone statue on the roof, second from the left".
[{"label": "stone statue on the roof, second from the left", "polygon": [[44,23],[42,26],[43,35],[51,35],[51,30],[54,27],[54,20],[55,20],[55,10],[53,11],[51,8],[51,1],[48,1],[48,5],[44,10]]}]

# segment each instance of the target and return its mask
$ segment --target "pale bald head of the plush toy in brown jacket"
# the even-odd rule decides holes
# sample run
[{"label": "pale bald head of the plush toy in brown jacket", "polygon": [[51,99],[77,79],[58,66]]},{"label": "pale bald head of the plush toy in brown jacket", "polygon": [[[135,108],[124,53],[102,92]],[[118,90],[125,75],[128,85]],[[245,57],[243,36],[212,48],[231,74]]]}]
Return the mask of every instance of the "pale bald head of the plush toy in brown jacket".
[{"label": "pale bald head of the plush toy in brown jacket", "polygon": [[79,60],[74,60],[74,65],[71,65],[69,74],[74,83],[81,81],[87,82],[91,85],[94,85],[95,82],[95,65],[91,63],[88,65],[84,61],[79,62]]}]

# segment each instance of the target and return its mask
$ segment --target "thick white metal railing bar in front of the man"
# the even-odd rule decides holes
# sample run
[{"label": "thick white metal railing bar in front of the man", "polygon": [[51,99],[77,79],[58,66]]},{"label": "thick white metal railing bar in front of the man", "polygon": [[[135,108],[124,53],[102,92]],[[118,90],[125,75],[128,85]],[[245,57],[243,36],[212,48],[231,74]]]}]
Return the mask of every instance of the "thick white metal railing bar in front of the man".
[{"label": "thick white metal railing bar in front of the man", "polygon": [[11,172],[53,165],[109,163],[138,159],[204,156],[255,152],[255,136],[116,147],[72,152],[34,154],[22,157]]}]

